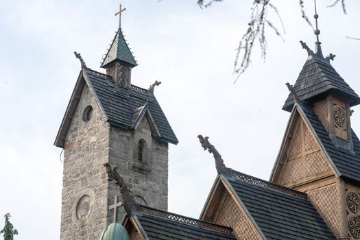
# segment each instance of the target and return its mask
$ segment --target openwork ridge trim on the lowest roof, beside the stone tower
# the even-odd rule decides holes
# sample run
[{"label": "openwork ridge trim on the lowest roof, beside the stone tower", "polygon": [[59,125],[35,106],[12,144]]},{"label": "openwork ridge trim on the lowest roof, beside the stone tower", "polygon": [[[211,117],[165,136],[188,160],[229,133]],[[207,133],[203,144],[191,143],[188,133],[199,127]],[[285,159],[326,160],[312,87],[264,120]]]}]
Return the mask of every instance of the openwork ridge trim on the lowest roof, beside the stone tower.
[{"label": "openwork ridge trim on the lowest roof, beside the stone tower", "polygon": [[189,224],[189,225],[192,225],[192,226],[202,227],[202,228],[206,228],[206,229],[209,229],[209,230],[215,230],[217,232],[224,232],[224,233],[227,233],[229,235],[232,235],[232,233],[233,233],[232,228],[229,228],[229,227],[226,227],[226,226],[213,224],[211,222],[202,221],[200,219],[195,219],[193,217],[186,217],[184,215],[179,215],[179,214],[176,214],[176,213],[169,213],[167,211],[163,211],[163,210],[160,210],[160,209],[157,209],[157,208],[151,208],[149,206],[139,205],[139,213],[155,215],[157,217],[163,217],[165,219],[182,222],[184,224]]}]

